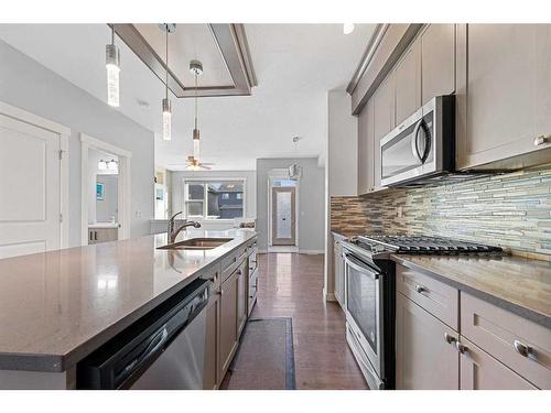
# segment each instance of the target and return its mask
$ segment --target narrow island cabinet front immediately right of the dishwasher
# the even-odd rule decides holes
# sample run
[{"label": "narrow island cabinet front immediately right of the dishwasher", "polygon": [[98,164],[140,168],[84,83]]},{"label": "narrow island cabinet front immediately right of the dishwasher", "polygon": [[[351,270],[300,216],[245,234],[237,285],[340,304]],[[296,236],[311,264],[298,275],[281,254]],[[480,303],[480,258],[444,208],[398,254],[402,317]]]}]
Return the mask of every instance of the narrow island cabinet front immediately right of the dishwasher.
[{"label": "narrow island cabinet front immediately right of the dishwasher", "polygon": [[205,366],[203,388],[214,390],[218,388],[218,330],[220,314],[219,287],[213,292],[206,309]]}]

